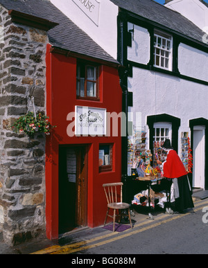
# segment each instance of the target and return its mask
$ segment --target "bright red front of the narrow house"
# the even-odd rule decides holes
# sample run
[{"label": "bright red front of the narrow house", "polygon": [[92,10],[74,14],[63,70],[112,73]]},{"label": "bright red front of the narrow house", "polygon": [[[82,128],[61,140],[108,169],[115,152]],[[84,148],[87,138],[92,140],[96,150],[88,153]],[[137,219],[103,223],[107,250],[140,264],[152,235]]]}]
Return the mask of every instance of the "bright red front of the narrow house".
[{"label": "bright red front of the narrow house", "polygon": [[[78,95],[78,66],[96,69],[96,96]],[[122,91],[115,64],[67,57],[58,50],[54,53],[50,45],[46,70],[46,109],[56,126],[46,140],[46,233],[54,239],[59,233],[79,226],[103,224],[106,213],[103,184],[121,181],[120,123],[118,135],[112,135],[113,129],[109,127],[109,134],[101,136],[76,136],[67,128],[72,126],[74,130],[75,118],[70,113],[77,106],[119,114]],[[109,162],[101,165],[99,153],[103,151]]]}]

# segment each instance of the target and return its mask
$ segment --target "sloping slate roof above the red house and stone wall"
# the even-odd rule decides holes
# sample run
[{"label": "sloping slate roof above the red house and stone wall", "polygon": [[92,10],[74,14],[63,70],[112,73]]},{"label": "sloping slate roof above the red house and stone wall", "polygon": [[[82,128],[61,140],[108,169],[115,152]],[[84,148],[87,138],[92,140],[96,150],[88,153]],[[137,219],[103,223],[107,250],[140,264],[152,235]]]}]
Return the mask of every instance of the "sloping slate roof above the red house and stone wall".
[{"label": "sloping slate roof above the red house and stone wall", "polygon": [[[60,0],[61,1],[61,0]],[[49,0],[0,0],[7,10],[16,10],[29,15],[48,19],[58,23],[49,30],[49,42],[52,46],[74,53],[87,55],[98,60],[118,64],[111,55],[98,46],[83,30],[65,16]]]}]

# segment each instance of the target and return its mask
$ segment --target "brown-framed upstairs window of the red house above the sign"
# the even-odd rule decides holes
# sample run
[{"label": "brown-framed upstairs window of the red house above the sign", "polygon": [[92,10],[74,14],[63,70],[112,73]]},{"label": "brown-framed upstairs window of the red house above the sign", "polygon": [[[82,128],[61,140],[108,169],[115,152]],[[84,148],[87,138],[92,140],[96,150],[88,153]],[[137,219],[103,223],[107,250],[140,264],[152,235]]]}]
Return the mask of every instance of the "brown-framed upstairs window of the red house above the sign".
[{"label": "brown-framed upstairs window of the red house above the sign", "polygon": [[98,100],[98,66],[86,62],[77,63],[76,96]]}]

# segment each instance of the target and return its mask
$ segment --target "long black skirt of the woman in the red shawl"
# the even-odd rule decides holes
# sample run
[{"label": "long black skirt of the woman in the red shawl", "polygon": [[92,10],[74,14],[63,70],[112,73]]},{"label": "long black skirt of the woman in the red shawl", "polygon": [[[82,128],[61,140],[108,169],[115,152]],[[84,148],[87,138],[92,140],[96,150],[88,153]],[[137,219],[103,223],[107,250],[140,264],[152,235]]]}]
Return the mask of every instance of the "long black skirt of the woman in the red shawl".
[{"label": "long black skirt of the woman in the red shawl", "polygon": [[194,208],[187,175],[177,178],[177,184],[179,198],[175,199],[175,211],[182,212],[187,208]]}]

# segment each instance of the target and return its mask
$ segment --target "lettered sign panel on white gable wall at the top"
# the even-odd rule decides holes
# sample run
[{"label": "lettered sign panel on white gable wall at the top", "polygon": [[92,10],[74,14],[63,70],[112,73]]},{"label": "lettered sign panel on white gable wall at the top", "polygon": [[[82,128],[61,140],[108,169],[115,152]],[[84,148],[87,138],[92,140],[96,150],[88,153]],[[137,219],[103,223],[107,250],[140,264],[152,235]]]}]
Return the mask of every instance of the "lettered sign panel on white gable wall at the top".
[{"label": "lettered sign panel on white gable wall at the top", "polygon": [[98,26],[100,3],[96,0],[72,0]]}]

